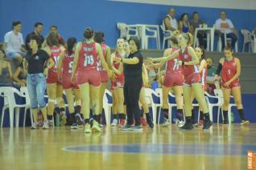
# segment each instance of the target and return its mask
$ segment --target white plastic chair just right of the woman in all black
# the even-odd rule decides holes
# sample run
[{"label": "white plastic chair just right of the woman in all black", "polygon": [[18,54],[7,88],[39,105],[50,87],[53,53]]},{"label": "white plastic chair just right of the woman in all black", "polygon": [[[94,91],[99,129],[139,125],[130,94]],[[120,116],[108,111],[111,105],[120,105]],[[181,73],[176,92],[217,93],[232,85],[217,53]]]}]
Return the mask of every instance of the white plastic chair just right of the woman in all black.
[{"label": "white plastic chair just right of the woman in all black", "polygon": [[151,107],[153,112],[153,122],[156,124],[157,107],[159,107],[159,114],[161,112],[161,97],[160,95],[152,90],[151,88],[145,88],[145,97],[151,99]]}]

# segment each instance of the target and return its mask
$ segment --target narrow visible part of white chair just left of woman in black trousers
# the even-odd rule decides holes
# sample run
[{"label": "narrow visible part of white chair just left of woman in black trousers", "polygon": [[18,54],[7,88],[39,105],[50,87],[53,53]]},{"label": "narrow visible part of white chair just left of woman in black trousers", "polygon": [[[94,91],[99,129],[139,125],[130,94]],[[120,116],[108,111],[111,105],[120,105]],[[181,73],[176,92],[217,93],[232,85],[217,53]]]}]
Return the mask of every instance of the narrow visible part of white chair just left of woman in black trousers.
[{"label": "narrow visible part of white chair just left of woman in black trousers", "polygon": [[105,89],[105,93],[103,95],[103,108],[104,108],[104,112],[105,112],[105,123],[106,123],[106,125],[110,125],[111,108],[112,107],[113,107],[112,94],[109,90]]}]

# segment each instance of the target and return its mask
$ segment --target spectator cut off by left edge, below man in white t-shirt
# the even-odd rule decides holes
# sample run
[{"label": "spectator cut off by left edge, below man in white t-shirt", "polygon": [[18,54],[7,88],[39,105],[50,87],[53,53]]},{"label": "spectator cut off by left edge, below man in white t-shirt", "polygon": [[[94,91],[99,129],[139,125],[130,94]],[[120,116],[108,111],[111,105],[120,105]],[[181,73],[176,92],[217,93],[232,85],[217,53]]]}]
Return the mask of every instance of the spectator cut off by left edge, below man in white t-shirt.
[{"label": "spectator cut off by left edge, below man in white t-shirt", "polygon": [[0,83],[13,83],[10,63],[6,61],[5,52],[0,50]]}]

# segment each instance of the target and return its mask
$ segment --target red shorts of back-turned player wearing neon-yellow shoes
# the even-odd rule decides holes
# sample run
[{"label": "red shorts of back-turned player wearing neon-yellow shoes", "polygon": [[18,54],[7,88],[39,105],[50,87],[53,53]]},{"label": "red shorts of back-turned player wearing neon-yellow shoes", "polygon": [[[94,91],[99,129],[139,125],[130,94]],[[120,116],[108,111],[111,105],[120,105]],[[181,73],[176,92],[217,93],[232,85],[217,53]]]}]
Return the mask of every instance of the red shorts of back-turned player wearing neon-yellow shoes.
[{"label": "red shorts of back-turned player wearing neon-yellow shoes", "polygon": [[101,75],[99,71],[78,71],[77,72],[77,84],[81,85],[89,83],[93,87],[101,86]]}]

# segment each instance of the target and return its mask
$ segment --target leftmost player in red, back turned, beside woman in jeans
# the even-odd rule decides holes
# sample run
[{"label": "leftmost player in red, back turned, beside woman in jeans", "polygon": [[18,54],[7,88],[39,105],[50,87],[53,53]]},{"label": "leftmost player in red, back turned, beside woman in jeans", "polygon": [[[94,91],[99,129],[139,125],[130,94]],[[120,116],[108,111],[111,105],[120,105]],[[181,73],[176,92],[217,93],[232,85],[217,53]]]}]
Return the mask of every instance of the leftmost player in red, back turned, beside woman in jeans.
[{"label": "leftmost player in red, back turned, beside woman in jeans", "polygon": [[59,40],[57,38],[57,34],[50,33],[47,35],[47,46],[44,48],[45,51],[51,56],[55,65],[51,69],[47,71],[47,95],[48,95],[48,106],[47,106],[47,115],[49,119],[49,126],[53,126],[52,115],[55,108],[55,103],[57,103],[58,107],[56,107],[56,112],[59,114],[61,112],[62,115],[65,114],[64,110],[64,99],[62,97],[63,87],[61,82],[58,80],[57,74],[57,66],[60,59],[60,53],[64,51],[64,47],[60,46]]}]

